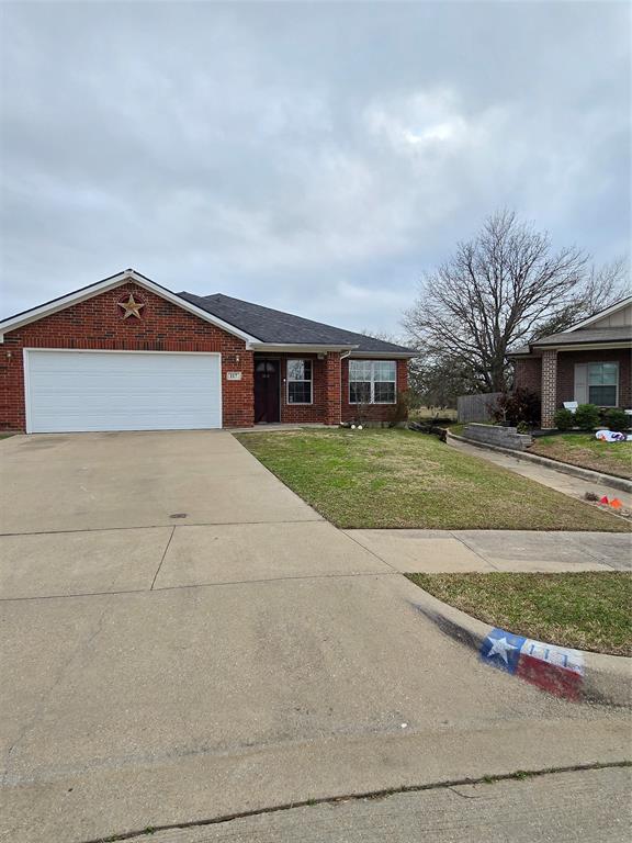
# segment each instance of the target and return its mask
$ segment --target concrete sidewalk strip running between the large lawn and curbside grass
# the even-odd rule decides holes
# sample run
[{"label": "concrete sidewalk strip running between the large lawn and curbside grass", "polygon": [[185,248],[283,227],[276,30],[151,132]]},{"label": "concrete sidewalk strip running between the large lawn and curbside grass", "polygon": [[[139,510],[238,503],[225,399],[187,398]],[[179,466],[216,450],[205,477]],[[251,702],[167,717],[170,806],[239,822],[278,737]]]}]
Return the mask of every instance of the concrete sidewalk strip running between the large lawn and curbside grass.
[{"label": "concrete sidewalk strip running between the large lawn and curbside grass", "polygon": [[632,570],[632,537],[621,532],[530,530],[345,530],[404,573]]}]

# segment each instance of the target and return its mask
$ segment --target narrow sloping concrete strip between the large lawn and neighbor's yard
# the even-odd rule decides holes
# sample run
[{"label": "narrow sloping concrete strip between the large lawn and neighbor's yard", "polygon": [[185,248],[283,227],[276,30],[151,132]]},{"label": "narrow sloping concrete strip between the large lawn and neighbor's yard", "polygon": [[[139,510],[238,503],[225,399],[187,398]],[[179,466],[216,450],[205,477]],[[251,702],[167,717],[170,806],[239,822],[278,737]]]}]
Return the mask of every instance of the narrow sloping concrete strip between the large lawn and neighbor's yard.
[{"label": "narrow sloping concrete strip between the large lawn and neighbor's yard", "polygon": [[500,453],[488,448],[462,442],[450,436],[448,437],[448,445],[470,457],[477,457],[479,460],[493,462],[495,465],[514,471],[516,474],[529,477],[529,480],[533,480],[535,483],[541,483],[543,486],[555,488],[557,492],[562,492],[571,497],[584,499],[587,492],[592,492],[594,494],[599,495],[599,497],[602,495],[606,495],[609,498],[618,497],[627,509],[632,509],[632,495],[629,492],[621,492],[611,488],[606,484],[574,477],[563,471],[556,471],[555,469],[550,469],[545,465],[520,460],[517,457],[510,457],[508,453]]}]

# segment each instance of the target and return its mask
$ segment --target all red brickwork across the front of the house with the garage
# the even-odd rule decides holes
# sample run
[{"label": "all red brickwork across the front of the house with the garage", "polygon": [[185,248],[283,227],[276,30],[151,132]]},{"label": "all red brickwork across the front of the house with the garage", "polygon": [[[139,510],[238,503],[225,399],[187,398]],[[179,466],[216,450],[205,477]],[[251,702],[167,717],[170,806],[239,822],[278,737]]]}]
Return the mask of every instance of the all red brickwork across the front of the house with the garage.
[{"label": "all red brickwork across the front of the house with the garage", "polygon": [[[117,302],[134,294],[144,302],[142,318],[123,319]],[[115,349],[129,351],[218,351],[222,353],[222,401],[225,427],[248,427],[255,422],[253,353],[245,342],[144,288],[126,283],[64,311],[9,331],[0,345],[0,429],[24,430],[23,348]],[[337,425],[356,416],[349,404],[349,361],[329,352],[313,360],[311,405],[287,404],[286,362],[297,355],[269,355],[281,360],[281,420],[293,424]],[[227,381],[240,371],[240,381]],[[397,390],[408,385],[408,364],[397,361]],[[342,406],[340,406],[342,395]],[[393,405],[368,407],[372,420],[388,420]]]}]

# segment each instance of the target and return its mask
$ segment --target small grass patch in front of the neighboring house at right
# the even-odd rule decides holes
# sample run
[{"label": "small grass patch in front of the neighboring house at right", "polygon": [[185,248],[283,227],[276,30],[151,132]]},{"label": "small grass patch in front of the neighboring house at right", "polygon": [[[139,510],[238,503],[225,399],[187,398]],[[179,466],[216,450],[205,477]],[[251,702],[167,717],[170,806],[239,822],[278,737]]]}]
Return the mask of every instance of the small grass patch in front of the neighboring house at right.
[{"label": "small grass patch in front of the neighboring house at right", "polygon": [[561,434],[538,437],[529,453],[632,480],[632,442],[600,442],[592,434]]}]

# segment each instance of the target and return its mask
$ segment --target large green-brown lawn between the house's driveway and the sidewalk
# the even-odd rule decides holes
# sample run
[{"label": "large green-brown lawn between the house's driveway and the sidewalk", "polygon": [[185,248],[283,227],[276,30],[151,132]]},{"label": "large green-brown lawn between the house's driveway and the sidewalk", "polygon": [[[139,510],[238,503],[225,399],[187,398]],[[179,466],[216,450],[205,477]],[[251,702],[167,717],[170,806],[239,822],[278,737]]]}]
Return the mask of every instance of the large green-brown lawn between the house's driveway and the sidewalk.
[{"label": "large green-brown lawn between the house's driveway and the sidewalk", "polygon": [[237,438],[338,527],[630,530],[595,506],[410,430],[304,429]]}]

